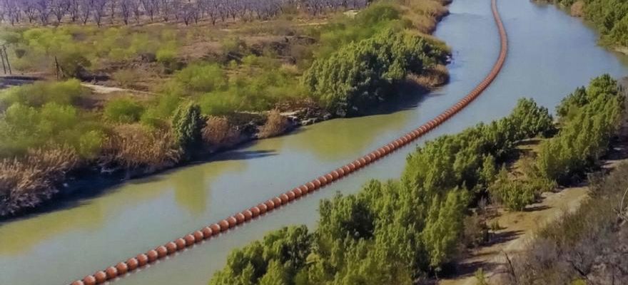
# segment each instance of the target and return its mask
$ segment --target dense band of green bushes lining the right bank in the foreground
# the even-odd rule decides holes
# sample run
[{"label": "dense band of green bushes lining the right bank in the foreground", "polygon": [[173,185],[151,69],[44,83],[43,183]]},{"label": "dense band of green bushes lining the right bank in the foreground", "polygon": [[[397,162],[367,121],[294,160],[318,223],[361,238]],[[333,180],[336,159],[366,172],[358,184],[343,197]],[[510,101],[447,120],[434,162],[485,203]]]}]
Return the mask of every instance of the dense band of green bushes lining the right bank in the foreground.
[{"label": "dense band of green bushes lining the right bank in the foreground", "polygon": [[[236,249],[210,284],[415,284],[482,244],[487,203],[521,211],[599,167],[624,116],[624,94],[594,78],[557,107],[522,99],[501,120],[418,147],[399,180],[320,203],[318,227],[286,227]],[[535,152],[520,146],[540,140]]]}]

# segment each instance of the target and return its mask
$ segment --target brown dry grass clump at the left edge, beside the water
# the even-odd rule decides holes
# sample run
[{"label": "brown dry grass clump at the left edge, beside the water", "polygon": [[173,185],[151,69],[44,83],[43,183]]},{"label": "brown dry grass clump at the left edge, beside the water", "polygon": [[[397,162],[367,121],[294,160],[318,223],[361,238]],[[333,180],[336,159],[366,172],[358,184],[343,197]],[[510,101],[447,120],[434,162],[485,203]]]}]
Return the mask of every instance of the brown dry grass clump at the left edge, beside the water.
[{"label": "brown dry grass clump at the left edge, beside the water", "polygon": [[35,207],[58,190],[66,174],[80,163],[70,147],[30,150],[21,159],[0,161],[0,216]]}]

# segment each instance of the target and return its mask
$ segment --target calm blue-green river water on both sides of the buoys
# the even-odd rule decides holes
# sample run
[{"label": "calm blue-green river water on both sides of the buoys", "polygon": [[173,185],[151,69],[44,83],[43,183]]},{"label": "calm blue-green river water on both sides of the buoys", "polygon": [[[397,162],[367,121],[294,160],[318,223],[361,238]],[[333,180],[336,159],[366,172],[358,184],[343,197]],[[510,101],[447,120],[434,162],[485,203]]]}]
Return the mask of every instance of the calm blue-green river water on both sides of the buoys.
[{"label": "calm blue-green river water on both sides of the buoys", "polygon": [[[553,110],[594,76],[627,74],[627,58],[597,46],[597,34],[579,19],[525,0],[499,0],[498,6],[510,40],[502,73],[418,144],[507,115],[518,98],[534,98]],[[452,79],[444,88],[394,113],[319,123],[0,224],[0,284],[68,284],[310,181],[430,120],[474,88],[499,52],[489,0],[455,0],[450,11],[435,33],[453,48]],[[111,283],[206,284],[233,248],[285,225],[314,226],[320,199],[356,192],[372,178],[399,177],[413,149],[405,147],[256,222]],[[96,186],[86,185],[85,192]]]}]

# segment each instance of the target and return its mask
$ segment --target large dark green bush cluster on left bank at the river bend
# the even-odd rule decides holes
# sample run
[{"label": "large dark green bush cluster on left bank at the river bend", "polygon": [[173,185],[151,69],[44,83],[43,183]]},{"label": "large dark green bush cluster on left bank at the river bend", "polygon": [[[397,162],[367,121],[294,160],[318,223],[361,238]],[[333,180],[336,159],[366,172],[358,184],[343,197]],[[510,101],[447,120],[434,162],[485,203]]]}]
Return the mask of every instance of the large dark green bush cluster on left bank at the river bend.
[{"label": "large dark green bush cluster on left bank at the river bend", "polygon": [[444,54],[420,36],[388,29],[314,61],[303,84],[330,112],[360,114],[393,95],[395,83],[440,62]]}]

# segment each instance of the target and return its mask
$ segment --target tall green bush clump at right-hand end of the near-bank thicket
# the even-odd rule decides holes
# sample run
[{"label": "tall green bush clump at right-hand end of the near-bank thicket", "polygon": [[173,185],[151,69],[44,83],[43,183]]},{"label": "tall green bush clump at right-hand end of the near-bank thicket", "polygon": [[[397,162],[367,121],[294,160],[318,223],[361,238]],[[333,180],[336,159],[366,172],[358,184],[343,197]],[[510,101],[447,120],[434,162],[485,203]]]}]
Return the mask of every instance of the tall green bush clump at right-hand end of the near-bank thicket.
[{"label": "tall green bush clump at right-hand end of the near-bank thicket", "polygon": [[605,75],[579,88],[559,106],[567,117],[557,136],[542,143],[537,157],[537,172],[547,180],[568,183],[596,165],[617,130],[624,98],[617,82]]}]

